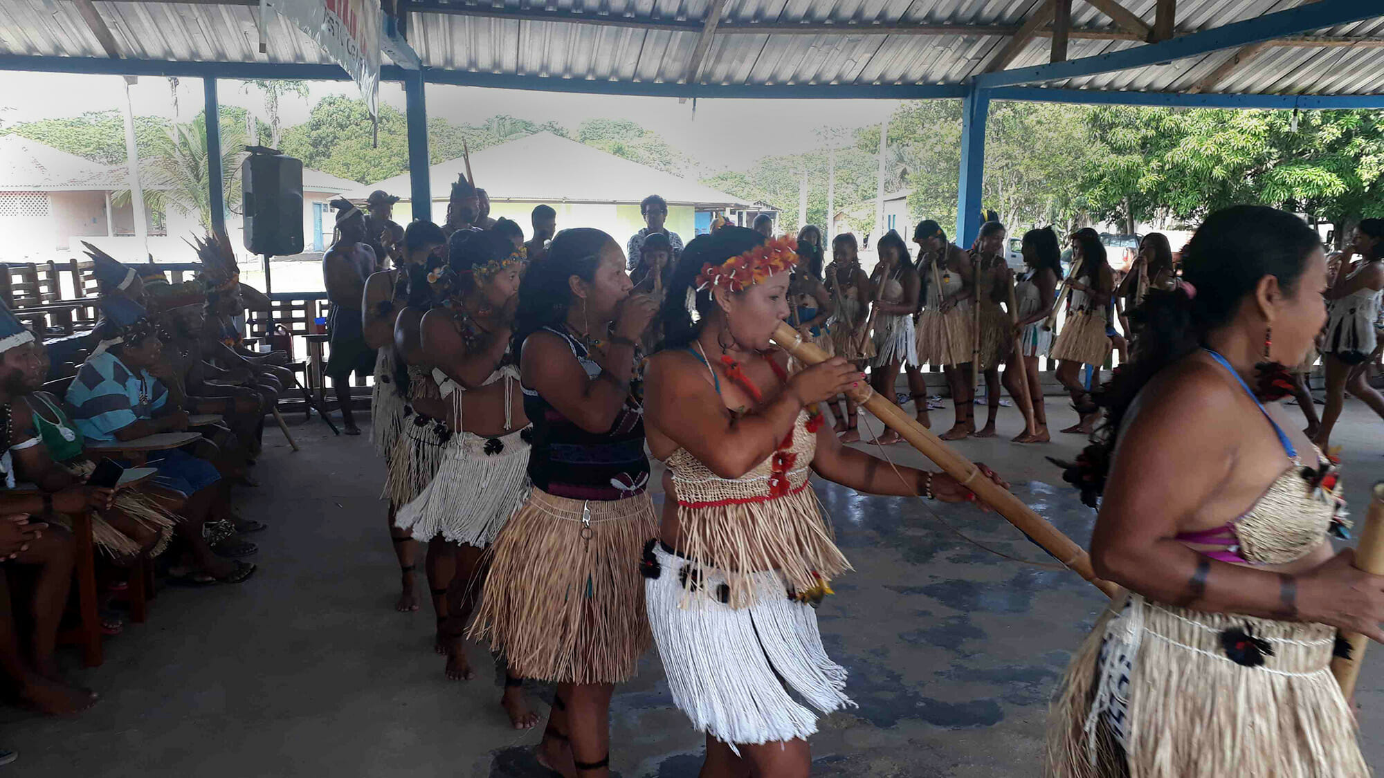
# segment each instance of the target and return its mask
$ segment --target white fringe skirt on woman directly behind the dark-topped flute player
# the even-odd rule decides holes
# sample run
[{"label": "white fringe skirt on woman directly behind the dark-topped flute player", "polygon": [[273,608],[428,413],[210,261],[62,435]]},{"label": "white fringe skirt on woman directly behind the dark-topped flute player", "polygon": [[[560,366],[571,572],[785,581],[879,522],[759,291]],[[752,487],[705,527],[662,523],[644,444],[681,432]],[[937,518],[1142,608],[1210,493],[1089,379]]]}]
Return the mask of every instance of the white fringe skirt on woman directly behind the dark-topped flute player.
[{"label": "white fringe skirt on woman directly behind the dark-topped flute player", "polygon": [[486,548],[529,491],[527,428],[501,437],[457,433],[432,483],[394,516],[419,541],[441,536]]}]

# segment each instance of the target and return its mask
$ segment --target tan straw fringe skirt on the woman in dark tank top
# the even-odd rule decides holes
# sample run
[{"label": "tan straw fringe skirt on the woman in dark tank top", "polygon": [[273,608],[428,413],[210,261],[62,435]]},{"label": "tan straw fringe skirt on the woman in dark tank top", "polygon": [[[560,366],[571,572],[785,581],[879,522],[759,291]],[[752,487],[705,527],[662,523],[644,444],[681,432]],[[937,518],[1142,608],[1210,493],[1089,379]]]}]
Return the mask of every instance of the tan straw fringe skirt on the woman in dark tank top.
[{"label": "tan straw fringe skirt on the woman in dark tank top", "polygon": [[523,678],[627,681],[653,641],[639,551],[656,533],[646,493],[606,503],[533,489],[491,547],[472,637]]}]

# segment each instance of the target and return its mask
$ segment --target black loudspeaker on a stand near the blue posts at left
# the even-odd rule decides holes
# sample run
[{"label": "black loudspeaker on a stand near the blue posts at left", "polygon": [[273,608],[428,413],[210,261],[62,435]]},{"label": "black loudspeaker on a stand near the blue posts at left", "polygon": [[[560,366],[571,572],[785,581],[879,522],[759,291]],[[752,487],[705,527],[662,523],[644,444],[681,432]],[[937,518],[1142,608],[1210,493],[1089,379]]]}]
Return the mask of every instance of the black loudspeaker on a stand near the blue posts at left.
[{"label": "black loudspeaker on a stand near the blue posts at left", "polygon": [[288,256],[303,252],[303,163],[262,145],[241,162],[245,248]]}]

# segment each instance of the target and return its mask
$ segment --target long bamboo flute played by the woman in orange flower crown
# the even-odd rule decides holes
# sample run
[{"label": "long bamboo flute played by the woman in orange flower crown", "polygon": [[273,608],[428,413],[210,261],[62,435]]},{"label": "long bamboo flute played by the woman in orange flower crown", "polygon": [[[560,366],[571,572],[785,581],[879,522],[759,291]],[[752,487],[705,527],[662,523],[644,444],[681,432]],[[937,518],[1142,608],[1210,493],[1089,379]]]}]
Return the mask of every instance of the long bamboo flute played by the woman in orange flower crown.
[{"label": "long bamboo flute played by the woman in orange flower crown", "polygon": [[[787,323],[779,324],[778,329],[774,331],[774,342],[804,364],[811,365],[826,359],[826,353],[822,349],[804,342]],[[853,396],[855,401],[869,408],[879,421],[900,433],[913,449],[922,451],[925,457],[941,467],[958,483],[974,491],[976,497],[994,508],[1009,523],[1019,527],[1030,540],[1041,545],[1048,554],[1052,554],[1053,558],[1070,570],[1086,579],[1111,598],[1120,592],[1120,587],[1114,583],[1096,577],[1091,566],[1091,557],[1086,555],[1084,548],[1077,545],[1075,541],[1063,534],[1057,527],[1048,523],[1046,519],[1035,514],[1032,508],[1010,494],[1009,490],[981,475],[980,468],[974,462],[958,454],[951,446],[904,413],[902,408],[891,403],[889,397],[876,395],[869,388],[855,389]]]}]

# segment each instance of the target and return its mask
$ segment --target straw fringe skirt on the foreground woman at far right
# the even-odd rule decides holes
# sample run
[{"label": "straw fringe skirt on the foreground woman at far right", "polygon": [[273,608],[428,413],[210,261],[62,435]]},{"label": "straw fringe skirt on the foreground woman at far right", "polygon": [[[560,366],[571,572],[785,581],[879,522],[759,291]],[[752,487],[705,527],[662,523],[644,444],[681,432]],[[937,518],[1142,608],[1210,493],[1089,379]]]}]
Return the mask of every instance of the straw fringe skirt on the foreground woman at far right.
[{"label": "straw fringe skirt on the foreground woman at far right", "polygon": [[[1226,630],[1265,641],[1264,664]],[[1048,725],[1050,778],[1366,778],[1324,624],[1203,613],[1129,595],[1096,620]],[[1124,658],[1124,660],[1121,660]],[[1240,656],[1243,659],[1243,655]]]}]

